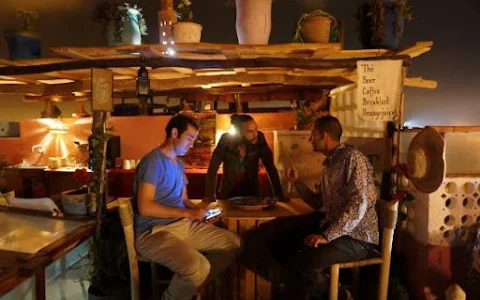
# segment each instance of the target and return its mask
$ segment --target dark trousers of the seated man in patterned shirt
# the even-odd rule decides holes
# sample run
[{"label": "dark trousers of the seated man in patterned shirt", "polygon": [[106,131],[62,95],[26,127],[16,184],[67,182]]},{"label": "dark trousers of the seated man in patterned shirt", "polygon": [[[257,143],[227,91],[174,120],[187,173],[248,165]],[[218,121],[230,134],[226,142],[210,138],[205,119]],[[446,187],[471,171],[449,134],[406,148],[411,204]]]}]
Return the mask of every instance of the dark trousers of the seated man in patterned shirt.
[{"label": "dark trousers of the seated man in patterned shirt", "polygon": [[[295,297],[291,299],[326,292],[328,277],[325,271],[331,265],[365,259],[374,246],[348,236],[317,248],[305,246],[303,240],[307,235],[322,232],[322,219],[322,214],[313,213],[263,223],[245,236],[243,256],[251,258],[254,255],[255,262],[250,264],[254,265],[254,271],[267,279],[285,283],[288,297]],[[262,263],[267,263],[269,270],[261,270]]]}]

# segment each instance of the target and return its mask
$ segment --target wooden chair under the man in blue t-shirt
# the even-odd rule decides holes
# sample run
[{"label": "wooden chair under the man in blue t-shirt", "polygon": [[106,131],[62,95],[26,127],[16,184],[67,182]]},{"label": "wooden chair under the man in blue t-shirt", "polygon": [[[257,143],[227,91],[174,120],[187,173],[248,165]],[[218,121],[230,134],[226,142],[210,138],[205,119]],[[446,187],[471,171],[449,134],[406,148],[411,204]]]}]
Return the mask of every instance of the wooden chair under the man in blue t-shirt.
[{"label": "wooden chair under the man in blue t-shirt", "polygon": [[[152,274],[152,298],[154,300],[160,299],[158,286],[160,284],[168,285],[170,283],[170,279],[165,280],[158,277],[159,271],[166,268],[137,254],[137,250],[135,249],[135,236],[133,233],[133,209],[131,199],[119,198],[118,202],[118,210],[120,213],[120,220],[122,222],[123,233],[125,234],[128,264],[130,267],[130,297],[132,300],[145,299],[145,297],[140,298],[140,279],[138,271],[138,262],[143,261],[150,263],[150,270]],[[170,272],[170,270],[168,271]],[[197,294],[195,295],[194,299],[201,300],[201,296]]]}]

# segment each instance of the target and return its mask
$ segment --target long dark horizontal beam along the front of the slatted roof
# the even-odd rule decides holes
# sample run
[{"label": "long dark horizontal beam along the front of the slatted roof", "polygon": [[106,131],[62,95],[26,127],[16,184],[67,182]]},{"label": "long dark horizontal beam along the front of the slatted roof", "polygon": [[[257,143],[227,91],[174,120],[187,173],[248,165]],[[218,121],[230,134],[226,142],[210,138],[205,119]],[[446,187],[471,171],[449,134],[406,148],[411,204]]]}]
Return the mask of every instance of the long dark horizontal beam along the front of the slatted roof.
[{"label": "long dark horizontal beam along the front of the slatted roof", "polygon": [[[364,60],[379,59],[403,60],[404,66],[410,65],[410,56],[394,55],[389,57],[365,57]],[[143,64],[152,68],[182,67],[190,69],[216,69],[216,68],[298,68],[298,69],[355,69],[358,59],[334,60],[306,60],[289,58],[261,58],[261,59],[236,59],[236,60],[187,60],[176,58],[145,58],[140,57],[123,59],[97,59],[73,60],[60,63],[42,64],[35,66],[5,66],[0,67],[1,75],[37,74],[54,71],[66,71],[87,68],[126,68],[139,67]]]}]

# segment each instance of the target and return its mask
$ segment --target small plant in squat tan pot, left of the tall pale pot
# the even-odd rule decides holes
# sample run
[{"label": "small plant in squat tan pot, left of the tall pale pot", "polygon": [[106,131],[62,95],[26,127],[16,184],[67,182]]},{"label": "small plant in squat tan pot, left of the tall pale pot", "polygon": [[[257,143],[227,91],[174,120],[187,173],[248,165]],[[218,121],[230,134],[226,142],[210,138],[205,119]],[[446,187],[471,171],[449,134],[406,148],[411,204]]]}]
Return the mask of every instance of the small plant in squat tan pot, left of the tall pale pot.
[{"label": "small plant in squat tan pot, left of the tall pale pot", "polygon": [[202,37],[202,25],[192,22],[193,12],[190,0],[180,0],[176,8],[179,20],[173,26],[173,39],[175,43],[199,43]]}]

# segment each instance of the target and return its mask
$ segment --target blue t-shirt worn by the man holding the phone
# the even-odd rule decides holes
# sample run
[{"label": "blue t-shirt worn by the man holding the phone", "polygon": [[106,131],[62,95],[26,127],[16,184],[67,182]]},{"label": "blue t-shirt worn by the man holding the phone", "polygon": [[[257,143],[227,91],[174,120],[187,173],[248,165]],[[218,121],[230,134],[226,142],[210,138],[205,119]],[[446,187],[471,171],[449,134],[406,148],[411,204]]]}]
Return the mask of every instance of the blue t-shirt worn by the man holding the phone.
[{"label": "blue t-shirt worn by the man holding the phone", "polygon": [[132,204],[135,212],[135,232],[142,233],[157,224],[169,224],[179,218],[149,218],[138,213],[137,197],[140,183],[155,185],[155,202],[177,208],[185,208],[182,201],[183,188],[188,184],[185,167],[180,160],[173,161],[159,148],[152,150],[142,158],[137,166],[133,184]]}]

